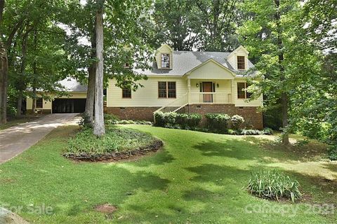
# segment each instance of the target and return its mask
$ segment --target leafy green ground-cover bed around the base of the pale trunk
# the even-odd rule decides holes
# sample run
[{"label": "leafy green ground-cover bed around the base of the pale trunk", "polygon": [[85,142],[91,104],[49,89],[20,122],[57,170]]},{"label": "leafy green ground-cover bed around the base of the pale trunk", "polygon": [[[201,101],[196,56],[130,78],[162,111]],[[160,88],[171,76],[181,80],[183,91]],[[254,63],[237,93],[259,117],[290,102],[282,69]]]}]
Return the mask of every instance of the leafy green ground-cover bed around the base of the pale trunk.
[{"label": "leafy green ground-cover bed around the base of the pale trunk", "polygon": [[156,140],[150,134],[127,128],[107,126],[103,137],[96,137],[91,128],[84,128],[68,141],[67,153],[102,155],[131,151],[148,146]]}]

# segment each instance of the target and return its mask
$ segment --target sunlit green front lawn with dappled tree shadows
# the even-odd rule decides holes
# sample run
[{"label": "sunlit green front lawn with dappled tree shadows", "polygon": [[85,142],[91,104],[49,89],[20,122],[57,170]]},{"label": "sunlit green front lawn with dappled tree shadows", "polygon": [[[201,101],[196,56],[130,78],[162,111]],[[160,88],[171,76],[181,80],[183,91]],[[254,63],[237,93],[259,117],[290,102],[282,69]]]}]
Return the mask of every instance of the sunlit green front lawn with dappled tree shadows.
[{"label": "sunlit green front lawn with dappled tree shadows", "polygon": [[[0,165],[0,204],[53,207],[53,215],[39,216],[25,210],[19,213],[32,223],[336,221],[336,214],[317,214],[306,204],[335,203],[336,207],[336,164],[301,162],[298,159],[302,154],[263,148],[260,140],[252,137],[147,125],[128,127],[162,139],[164,149],[133,162],[72,162],[63,158],[62,152],[77,127],[60,127],[22,155]],[[284,170],[298,180],[301,192],[309,196],[304,197],[307,201],[273,202],[247,193],[243,188],[251,172],[260,169]],[[331,181],[326,180],[327,174]],[[117,206],[118,211],[106,215],[93,209],[104,203]],[[281,206],[289,213],[247,213],[250,206]]]}]

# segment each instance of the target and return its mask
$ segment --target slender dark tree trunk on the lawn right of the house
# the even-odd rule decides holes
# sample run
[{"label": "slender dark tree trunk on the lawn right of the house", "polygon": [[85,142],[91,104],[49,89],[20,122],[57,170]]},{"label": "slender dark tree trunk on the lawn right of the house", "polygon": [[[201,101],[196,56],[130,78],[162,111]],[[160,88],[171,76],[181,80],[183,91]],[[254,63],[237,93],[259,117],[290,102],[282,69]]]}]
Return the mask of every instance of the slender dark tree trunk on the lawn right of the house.
[{"label": "slender dark tree trunk on the lawn right of the house", "polygon": [[[279,8],[280,0],[274,0],[276,6],[276,13],[275,13],[275,20],[277,26],[277,48],[279,51],[278,55],[278,63],[279,63],[279,72],[280,72],[280,80],[282,81],[282,85],[285,79],[284,76],[284,54],[283,54],[283,41],[282,41],[282,27],[281,27],[281,13]],[[283,91],[281,94],[281,106],[282,106],[282,144],[288,145],[289,144],[289,134],[286,128],[288,127],[288,95],[286,93],[285,86],[282,86]]]}]

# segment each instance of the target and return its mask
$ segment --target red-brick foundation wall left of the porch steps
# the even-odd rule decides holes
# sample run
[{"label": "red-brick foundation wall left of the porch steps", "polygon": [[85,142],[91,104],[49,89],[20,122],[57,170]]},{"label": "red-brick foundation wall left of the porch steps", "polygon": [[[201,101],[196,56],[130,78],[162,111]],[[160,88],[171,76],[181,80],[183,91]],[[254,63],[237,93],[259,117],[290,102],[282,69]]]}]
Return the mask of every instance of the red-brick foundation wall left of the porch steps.
[{"label": "red-brick foundation wall left of the porch steps", "polygon": [[107,107],[107,113],[117,115],[121,120],[150,120],[159,107]]}]

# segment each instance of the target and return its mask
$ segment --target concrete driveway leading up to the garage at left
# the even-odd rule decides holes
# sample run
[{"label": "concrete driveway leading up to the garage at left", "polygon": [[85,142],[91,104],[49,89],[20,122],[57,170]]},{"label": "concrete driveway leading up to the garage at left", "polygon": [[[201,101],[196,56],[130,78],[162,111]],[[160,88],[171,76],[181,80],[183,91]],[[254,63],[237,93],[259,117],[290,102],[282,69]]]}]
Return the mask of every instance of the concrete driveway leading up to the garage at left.
[{"label": "concrete driveway leading up to the garage at left", "polygon": [[0,164],[11,160],[60,125],[76,124],[76,113],[48,114],[37,120],[0,131]]}]

